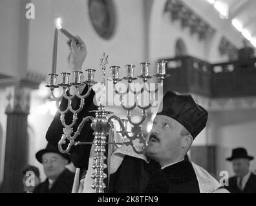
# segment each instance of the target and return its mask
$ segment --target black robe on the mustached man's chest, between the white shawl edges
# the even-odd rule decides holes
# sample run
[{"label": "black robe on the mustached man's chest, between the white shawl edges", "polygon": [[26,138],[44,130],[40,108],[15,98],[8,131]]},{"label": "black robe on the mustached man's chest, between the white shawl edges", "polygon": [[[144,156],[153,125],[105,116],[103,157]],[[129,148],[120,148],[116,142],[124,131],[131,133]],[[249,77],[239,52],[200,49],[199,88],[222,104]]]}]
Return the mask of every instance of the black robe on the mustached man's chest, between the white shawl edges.
[{"label": "black robe on the mustached man's chest, between the white shawl edges", "polygon": [[154,160],[147,164],[144,160],[125,156],[116,173],[111,174],[109,192],[199,193],[200,190],[187,155],[182,162],[164,169]]}]

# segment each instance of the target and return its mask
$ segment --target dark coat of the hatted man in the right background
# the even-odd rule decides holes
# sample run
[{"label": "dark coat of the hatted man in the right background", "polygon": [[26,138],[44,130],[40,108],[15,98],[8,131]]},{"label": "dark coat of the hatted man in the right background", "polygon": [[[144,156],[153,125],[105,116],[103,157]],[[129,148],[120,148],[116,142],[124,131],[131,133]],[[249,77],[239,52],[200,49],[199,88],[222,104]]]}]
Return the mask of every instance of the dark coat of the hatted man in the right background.
[{"label": "dark coat of the hatted man in the right background", "polygon": [[229,186],[226,189],[231,193],[256,193],[256,175],[253,173],[251,173],[242,191],[237,187],[237,176],[229,178],[228,183]]}]

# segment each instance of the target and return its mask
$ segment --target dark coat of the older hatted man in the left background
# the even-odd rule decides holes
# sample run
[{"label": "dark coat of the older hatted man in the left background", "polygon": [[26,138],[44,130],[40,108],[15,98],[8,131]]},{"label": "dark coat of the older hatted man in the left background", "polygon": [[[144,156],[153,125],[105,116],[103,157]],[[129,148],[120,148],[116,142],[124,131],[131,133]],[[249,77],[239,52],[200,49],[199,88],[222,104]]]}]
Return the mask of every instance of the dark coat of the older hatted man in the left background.
[{"label": "dark coat of the older hatted man in the left background", "polygon": [[47,178],[45,182],[37,185],[33,193],[71,193],[73,182],[74,173],[70,172],[69,169],[65,169],[63,173],[59,175],[50,189],[48,189],[49,182]]}]

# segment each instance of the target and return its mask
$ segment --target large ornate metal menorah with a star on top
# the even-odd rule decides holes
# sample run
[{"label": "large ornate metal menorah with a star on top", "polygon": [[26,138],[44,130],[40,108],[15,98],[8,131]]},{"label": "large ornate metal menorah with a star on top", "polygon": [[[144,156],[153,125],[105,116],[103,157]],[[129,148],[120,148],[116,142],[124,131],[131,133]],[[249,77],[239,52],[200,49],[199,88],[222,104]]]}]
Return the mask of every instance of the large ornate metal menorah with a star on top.
[{"label": "large ornate metal menorah with a star on top", "polygon": [[[105,53],[103,53],[103,57],[101,57],[101,69],[103,71],[103,86],[105,88],[105,68],[107,64],[107,57]],[[163,83],[163,80],[168,75],[165,73],[166,68],[166,61],[157,61],[156,62],[156,74],[154,75],[158,82]],[[127,64],[125,65],[125,68],[127,70],[127,76],[123,77],[122,79],[119,78],[119,70],[120,66],[111,66],[111,78],[108,80],[111,80],[113,83],[114,92],[117,95],[120,95],[120,101],[122,102],[122,97],[124,95],[127,95],[129,92],[132,92],[134,97],[137,97],[138,95],[147,92],[150,95],[155,94],[158,92],[158,88],[151,91],[146,86],[146,82],[148,79],[153,78],[149,75],[149,62],[142,62],[142,73],[138,77],[134,77],[134,65],[133,64]],[[103,180],[107,178],[107,175],[104,173],[104,170],[107,169],[107,165],[105,164],[105,160],[107,159],[105,156],[106,151],[106,145],[126,145],[133,148],[135,153],[142,154],[145,152],[145,137],[142,132],[142,124],[144,123],[146,116],[147,116],[147,110],[151,108],[152,106],[152,99],[149,102],[147,106],[141,106],[138,104],[138,100],[136,98],[136,102],[134,102],[133,106],[125,106],[122,104],[122,108],[127,112],[127,119],[121,119],[120,117],[117,117],[116,115],[112,115],[108,118],[108,115],[112,114],[111,111],[105,110],[105,105],[103,102],[100,102],[100,105],[98,106],[98,110],[91,111],[95,112],[95,118],[94,117],[84,117],[83,120],[81,120],[80,125],[78,126],[76,131],[73,131],[73,126],[76,124],[78,120],[78,113],[83,109],[83,106],[85,104],[86,98],[90,95],[92,86],[96,84],[97,82],[94,80],[94,73],[96,70],[88,69],[87,71],[87,80],[84,82],[81,81],[81,75],[82,71],[73,71],[74,73],[74,80],[73,82],[70,82],[70,73],[62,72],[62,82],[61,84],[57,84],[57,77],[58,74],[56,73],[50,73],[50,83],[47,85],[48,88],[50,88],[51,96],[56,101],[56,108],[58,113],[60,113],[60,120],[64,127],[63,129],[63,135],[61,136],[61,140],[59,140],[58,148],[61,153],[69,153],[70,148],[72,146],[80,145],[80,144],[94,144],[95,145],[95,153],[94,156],[94,164],[92,168],[94,169],[94,174],[92,174],[92,178],[94,179],[94,183],[92,184],[92,189],[96,193],[103,193],[104,189],[106,187]],[[131,83],[136,79],[142,79],[144,82],[143,87],[139,91],[133,91],[131,88]],[[116,84],[122,80],[127,80],[128,82],[128,88],[126,91],[118,91],[116,88]],[[87,93],[84,95],[81,95],[80,93],[80,86],[87,84],[88,90]],[[74,93],[70,94],[70,88],[74,88]],[[62,88],[62,94],[59,97],[56,97],[54,95],[54,89],[56,88]],[[69,91],[69,92],[67,92]],[[78,97],[80,99],[80,106],[78,109],[72,108],[72,100],[74,97]],[[63,99],[68,100],[67,108],[65,110],[61,110],[59,108],[59,102]],[[132,118],[132,111],[138,107],[142,110],[142,118],[139,122],[134,122]],[[72,123],[66,124],[65,123],[65,114],[70,111],[73,114]],[[94,130],[94,141],[93,142],[80,142],[76,141],[76,138],[80,135],[81,129],[84,126],[85,122],[91,120],[91,128]],[[120,126],[120,133],[122,135],[122,138],[125,138],[125,141],[118,142],[116,139],[113,138],[112,135],[109,135],[109,129],[113,126],[113,124],[119,124]],[[127,123],[131,124],[131,132],[127,131]],[[109,138],[107,140],[107,136],[109,135]],[[67,145],[66,149],[63,149],[63,144],[66,144],[66,141],[69,140],[69,144]],[[136,144],[134,144],[136,142]],[[138,149],[138,145],[140,145],[140,149]],[[109,157],[110,158],[110,157]]]}]

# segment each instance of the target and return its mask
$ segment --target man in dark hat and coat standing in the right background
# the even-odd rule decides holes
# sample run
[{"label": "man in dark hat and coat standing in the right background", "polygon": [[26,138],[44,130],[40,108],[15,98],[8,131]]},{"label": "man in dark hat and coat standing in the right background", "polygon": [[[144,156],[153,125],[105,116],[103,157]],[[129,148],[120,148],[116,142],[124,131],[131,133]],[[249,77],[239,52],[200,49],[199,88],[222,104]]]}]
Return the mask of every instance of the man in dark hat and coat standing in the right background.
[{"label": "man in dark hat and coat standing in the right background", "polygon": [[230,192],[254,193],[256,192],[256,175],[250,171],[250,161],[253,156],[248,155],[246,149],[239,147],[232,150],[231,157],[226,160],[232,162],[235,176],[229,178]]}]

